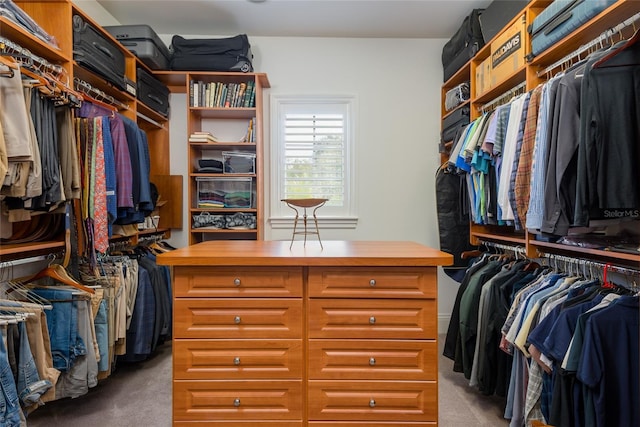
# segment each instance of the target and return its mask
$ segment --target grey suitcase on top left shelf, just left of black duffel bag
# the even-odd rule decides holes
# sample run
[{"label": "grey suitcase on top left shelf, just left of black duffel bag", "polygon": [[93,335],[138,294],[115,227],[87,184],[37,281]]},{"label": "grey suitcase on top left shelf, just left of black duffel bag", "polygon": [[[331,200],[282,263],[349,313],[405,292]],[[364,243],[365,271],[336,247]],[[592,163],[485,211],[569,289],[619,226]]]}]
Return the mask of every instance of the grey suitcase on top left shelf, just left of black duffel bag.
[{"label": "grey suitcase on top left shelf, just left of black duffel bag", "polygon": [[152,70],[169,69],[169,49],[148,25],[103,27]]}]

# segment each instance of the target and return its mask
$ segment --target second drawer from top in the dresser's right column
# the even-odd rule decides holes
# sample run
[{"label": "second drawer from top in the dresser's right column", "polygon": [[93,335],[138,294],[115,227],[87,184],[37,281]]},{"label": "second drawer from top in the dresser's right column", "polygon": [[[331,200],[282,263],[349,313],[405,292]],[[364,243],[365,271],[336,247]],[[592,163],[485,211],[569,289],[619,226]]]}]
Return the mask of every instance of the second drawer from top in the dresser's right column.
[{"label": "second drawer from top in the dresser's right column", "polygon": [[310,338],[436,339],[436,300],[309,300]]}]

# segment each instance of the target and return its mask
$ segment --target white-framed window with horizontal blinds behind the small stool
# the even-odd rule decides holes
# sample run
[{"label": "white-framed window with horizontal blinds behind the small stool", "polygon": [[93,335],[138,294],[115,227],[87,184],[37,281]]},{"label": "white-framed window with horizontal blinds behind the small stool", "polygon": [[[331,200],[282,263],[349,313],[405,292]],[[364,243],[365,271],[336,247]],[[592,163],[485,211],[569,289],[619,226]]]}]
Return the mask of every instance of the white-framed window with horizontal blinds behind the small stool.
[{"label": "white-framed window with horizontal blinds behind the small stool", "polygon": [[[272,225],[290,218],[285,198],[326,198],[318,213],[325,227],[354,221],[352,97],[272,98]],[[331,218],[331,220],[329,220]],[[343,221],[346,220],[347,223]]]}]

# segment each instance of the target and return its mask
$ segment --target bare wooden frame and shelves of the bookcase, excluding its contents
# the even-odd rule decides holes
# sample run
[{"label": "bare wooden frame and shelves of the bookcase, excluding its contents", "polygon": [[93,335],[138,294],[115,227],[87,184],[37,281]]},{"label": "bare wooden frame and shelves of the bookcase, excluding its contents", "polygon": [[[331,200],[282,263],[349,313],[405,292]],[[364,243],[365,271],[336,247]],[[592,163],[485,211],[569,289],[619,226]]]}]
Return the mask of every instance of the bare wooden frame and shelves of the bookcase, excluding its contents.
[{"label": "bare wooden frame and shelves of the bookcase, excluding its contents", "polygon": [[[194,244],[208,240],[262,240],[263,238],[263,194],[262,194],[262,92],[269,87],[265,74],[261,73],[187,73],[184,81],[175,75],[165,73],[160,78],[166,83],[182,83],[184,91],[190,96],[187,111],[187,135],[194,132],[210,132],[216,136],[218,142],[187,142],[189,161],[189,243]],[[173,80],[172,80],[173,79]],[[229,86],[231,84],[251,83],[255,87],[253,102],[244,103],[242,107],[200,107],[192,106],[192,83],[216,83]],[[202,104],[200,104],[202,105]],[[247,138],[249,123],[253,121],[254,137]],[[255,156],[255,170],[253,173],[227,173],[228,171],[209,172],[200,171],[200,160],[211,159],[223,161],[223,152],[233,152],[239,155]],[[216,192],[217,197],[232,194],[250,193],[245,206],[245,199],[240,207],[233,203],[224,202],[221,206],[210,207],[202,202],[201,196],[205,192],[205,185]],[[199,192],[200,191],[200,192]],[[208,191],[208,190],[207,190]],[[255,228],[221,228],[216,226],[198,227],[194,217],[199,215],[213,215],[230,218],[234,214],[242,213],[255,217]]]}]

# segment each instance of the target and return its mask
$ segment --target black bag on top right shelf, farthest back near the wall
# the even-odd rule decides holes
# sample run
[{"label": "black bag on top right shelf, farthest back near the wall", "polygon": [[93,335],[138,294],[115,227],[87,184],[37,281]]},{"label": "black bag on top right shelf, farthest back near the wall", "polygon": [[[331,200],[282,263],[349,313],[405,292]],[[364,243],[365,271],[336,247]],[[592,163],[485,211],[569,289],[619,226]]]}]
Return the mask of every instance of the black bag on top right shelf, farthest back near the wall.
[{"label": "black bag on top right shelf, farthest back near the wall", "polygon": [[484,46],[480,15],[484,9],[473,9],[458,31],[442,48],[442,66],[446,82]]}]

